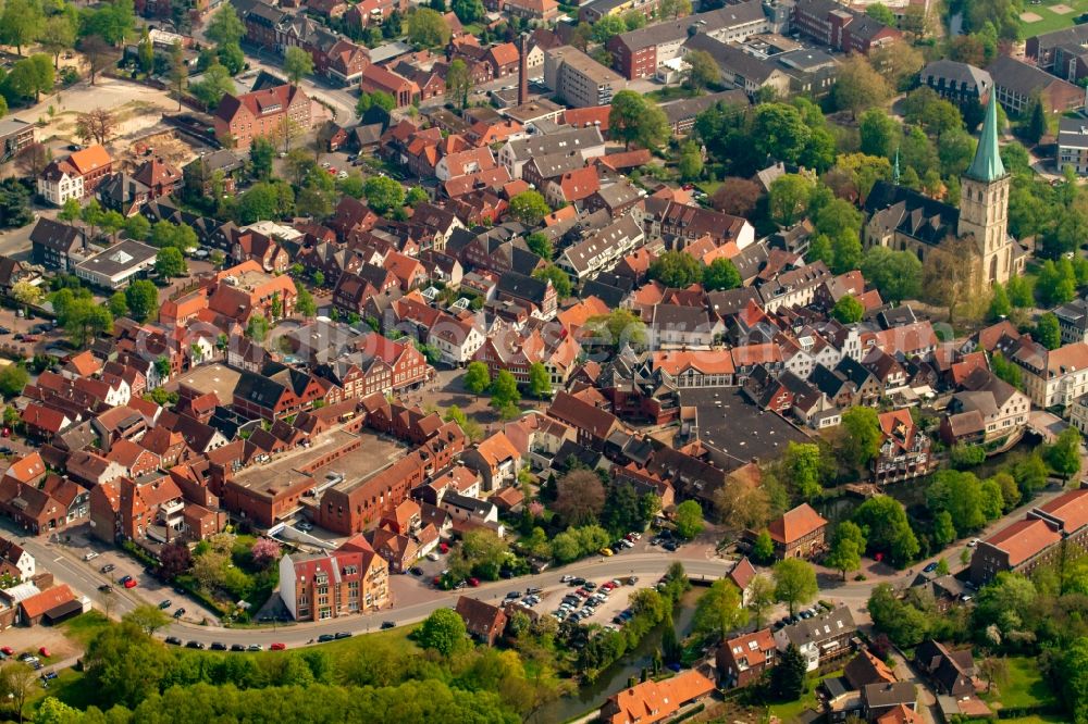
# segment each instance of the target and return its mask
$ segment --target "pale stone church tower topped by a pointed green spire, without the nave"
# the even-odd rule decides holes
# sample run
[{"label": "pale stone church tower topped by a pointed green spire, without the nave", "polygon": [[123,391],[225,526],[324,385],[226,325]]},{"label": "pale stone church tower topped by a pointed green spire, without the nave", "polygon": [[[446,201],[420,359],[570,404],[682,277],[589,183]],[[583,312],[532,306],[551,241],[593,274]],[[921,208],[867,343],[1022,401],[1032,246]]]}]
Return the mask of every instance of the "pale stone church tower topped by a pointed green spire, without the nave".
[{"label": "pale stone church tower topped by a pointed green spire, without the nave", "polygon": [[1009,239],[1009,174],[998,148],[998,109],[990,93],[975,160],[960,182],[960,237],[973,237],[981,265],[979,286],[1005,283],[1012,275],[1013,244]]}]

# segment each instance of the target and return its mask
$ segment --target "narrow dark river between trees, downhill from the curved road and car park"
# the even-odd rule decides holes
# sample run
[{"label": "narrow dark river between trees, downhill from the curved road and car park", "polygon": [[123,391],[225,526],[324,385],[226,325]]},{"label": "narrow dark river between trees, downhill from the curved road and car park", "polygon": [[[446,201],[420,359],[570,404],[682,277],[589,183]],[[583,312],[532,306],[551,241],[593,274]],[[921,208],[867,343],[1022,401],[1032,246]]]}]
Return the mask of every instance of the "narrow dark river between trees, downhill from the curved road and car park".
[{"label": "narrow dark river between trees, downhill from the curved road and car park", "polygon": [[[672,620],[676,622],[677,633],[682,640],[691,633],[692,619],[695,615],[695,602],[701,594],[706,589],[694,586],[684,594],[680,602],[677,603],[672,612]],[[653,628],[642,639],[633,650],[626,653],[622,659],[611,666],[601,672],[596,681],[592,684],[583,684],[578,691],[570,696],[556,699],[552,703],[537,710],[527,722],[529,724],[559,724],[568,720],[581,716],[588,711],[597,709],[616,691],[627,686],[630,677],[638,678],[643,669],[650,669],[654,660],[654,651],[662,647],[662,636],[664,626]]]}]

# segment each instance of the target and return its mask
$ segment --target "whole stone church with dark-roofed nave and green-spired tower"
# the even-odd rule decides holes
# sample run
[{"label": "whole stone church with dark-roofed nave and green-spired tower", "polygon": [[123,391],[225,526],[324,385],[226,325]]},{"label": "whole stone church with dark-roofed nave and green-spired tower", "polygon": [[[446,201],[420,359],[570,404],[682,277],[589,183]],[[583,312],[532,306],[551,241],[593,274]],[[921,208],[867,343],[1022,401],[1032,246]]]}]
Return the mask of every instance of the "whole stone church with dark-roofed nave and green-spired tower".
[{"label": "whole stone church with dark-roofed nave and green-spired tower", "polygon": [[[952,240],[973,250],[976,289],[1004,284],[1024,271],[1026,250],[1009,236],[1010,177],[998,145],[998,112],[992,95],[970,166],[960,178],[960,207],[931,199],[893,182],[878,182],[865,200],[866,248],[910,251],[925,262]],[[898,154],[897,154],[898,166]],[[897,174],[898,176],[898,174]]]}]

